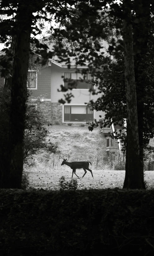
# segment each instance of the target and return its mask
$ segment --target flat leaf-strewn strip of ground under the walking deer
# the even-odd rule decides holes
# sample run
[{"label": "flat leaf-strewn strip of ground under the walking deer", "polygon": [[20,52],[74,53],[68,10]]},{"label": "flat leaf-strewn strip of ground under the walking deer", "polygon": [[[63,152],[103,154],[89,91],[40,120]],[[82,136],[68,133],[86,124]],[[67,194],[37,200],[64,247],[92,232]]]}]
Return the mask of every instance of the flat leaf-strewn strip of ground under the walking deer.
[{"label": "flat leaf-strewn strip of ground under the walking deer", "polygon": [[[34,188],[43,189],[59,189],[59,179],[61,176],[65,177],[65,180],[71,180],[72,171],[71,170],[55,170],[50,172],[31,172],[27,171],[30,178],[30,186]],[[84,170],[77,170],[76,174],[80,177],[77,178],[73,175],[74,179],[78,181],[78,189],[105,189],[105,188],[122,188],[125,171],[114,171],[114,170],[93,170],[92,178],[91,173],[87,171],[84,175]],[[147,182],[147,188],[154,188],[154,171],[145,171],[145,181]]]}]

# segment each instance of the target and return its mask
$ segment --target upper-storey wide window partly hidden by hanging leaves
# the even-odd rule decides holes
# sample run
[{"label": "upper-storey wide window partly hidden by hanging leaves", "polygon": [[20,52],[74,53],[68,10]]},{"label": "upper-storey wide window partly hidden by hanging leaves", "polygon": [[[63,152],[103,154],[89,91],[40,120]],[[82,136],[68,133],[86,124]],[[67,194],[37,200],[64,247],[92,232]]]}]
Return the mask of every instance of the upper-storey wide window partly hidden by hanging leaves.
[{"label": "upper-storey wide window partly hidden by hanging leaves", "polygon": [[92,88],[92,80],[93,77],[91,77],[90,74],[87,74],[84,78],[84,75],[80,73],[64,73],[64,87],[68,89],[70,89],[71,87],[75,87],[76,89]]}]

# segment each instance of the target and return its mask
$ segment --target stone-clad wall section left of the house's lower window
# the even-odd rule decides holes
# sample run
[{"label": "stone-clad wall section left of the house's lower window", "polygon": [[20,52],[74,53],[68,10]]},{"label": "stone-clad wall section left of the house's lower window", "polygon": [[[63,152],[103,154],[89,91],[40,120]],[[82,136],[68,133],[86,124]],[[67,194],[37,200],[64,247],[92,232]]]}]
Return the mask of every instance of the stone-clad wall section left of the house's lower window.
[{"label": "stone-clad wall section left of the house's lower window", "polygon": [[39,105],[45,119],[48,119],[51,123],[56,121],[62,123],[62,105],[60,103],[43,101]]}]

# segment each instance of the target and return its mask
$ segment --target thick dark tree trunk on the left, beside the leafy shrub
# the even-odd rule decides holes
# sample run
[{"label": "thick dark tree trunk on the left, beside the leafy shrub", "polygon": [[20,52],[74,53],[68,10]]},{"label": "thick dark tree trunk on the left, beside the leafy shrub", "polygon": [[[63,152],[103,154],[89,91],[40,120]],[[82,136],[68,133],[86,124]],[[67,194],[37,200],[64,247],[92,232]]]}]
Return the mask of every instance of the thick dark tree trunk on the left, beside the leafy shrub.
[{"label": "thick dark tree trunk on the left, beside the leafy shrub", "polygon": [[32,13],[29,9],[25,10],[25,6],[19,6],[16,15],[15,56],[11,84],[9,166],[3,177],[3,188],[21,188],[31,26]]}]

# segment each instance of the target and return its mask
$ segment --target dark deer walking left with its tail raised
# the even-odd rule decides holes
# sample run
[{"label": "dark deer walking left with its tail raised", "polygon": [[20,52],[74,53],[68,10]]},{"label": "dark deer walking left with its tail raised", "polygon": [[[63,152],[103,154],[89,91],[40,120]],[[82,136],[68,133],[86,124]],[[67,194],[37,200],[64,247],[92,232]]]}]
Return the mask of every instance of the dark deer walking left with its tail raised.
[{"label": "dark deer walking left with its tail raised", "polygon": [[[63,162],[61,163],[61,165],[68,165],[70,166],[70,168],[73,170],[72,172],[72,178],[73,178],[73,174],[76,172],[76,169],[84,169],[84,175],[87,173],[86,170],[90,171],[93,177],[93,173],[92,170],[89,169],[89,163],[91,164],[91,162],[67,162],[67,158],[64,159],[63,158]],[[92,165],[92,164],[91,164]],[[76,173],[75,173],[76,175]],[[82,176],[82,178],[84,177],[84,175]],[[78,178],[79,176],[76,175]]]}]

